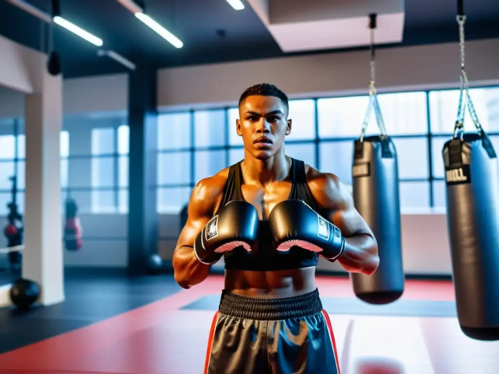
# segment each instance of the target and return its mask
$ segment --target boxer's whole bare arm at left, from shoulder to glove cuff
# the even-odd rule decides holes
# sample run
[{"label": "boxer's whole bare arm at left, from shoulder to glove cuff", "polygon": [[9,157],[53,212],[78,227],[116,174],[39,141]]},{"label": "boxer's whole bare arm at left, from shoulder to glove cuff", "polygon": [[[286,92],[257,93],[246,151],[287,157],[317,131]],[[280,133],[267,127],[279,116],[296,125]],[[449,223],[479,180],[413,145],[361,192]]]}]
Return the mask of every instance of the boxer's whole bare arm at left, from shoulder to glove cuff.
[{"label": "boxer's whole bare arm at left, from shoulder to glove cuff", "polygon": [[194,241],[212,218],[220,203],[227,178],[216,175],[198,182],[189,200],[188,218],[173,252],[175,281],[183,288],[190,288],[206,279],[211,265],[198,261],[194,253]]}]

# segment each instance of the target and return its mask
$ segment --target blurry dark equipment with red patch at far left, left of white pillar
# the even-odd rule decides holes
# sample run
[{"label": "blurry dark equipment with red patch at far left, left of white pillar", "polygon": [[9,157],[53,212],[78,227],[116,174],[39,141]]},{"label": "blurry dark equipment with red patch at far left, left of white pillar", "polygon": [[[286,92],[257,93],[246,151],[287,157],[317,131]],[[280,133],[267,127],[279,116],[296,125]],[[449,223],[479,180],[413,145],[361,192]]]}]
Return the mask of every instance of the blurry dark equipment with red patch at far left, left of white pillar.
[{"label": "blurry dark equipment with red patch at far left, left of white pillar", "polygon": [[[22,215],[17,210],[17,178],[10,177],[12,182],[11,187],[11,201],[7,203],[7,225],[3,229],[3,234],[7,239],[7,247],[17,247],[22,244],[22,234],[24,227],[22,225]],[[15,270],[20,268],[22,262],[22,254],[20,251],[11,250],[8,252],[8,262],[10,269]]]}]

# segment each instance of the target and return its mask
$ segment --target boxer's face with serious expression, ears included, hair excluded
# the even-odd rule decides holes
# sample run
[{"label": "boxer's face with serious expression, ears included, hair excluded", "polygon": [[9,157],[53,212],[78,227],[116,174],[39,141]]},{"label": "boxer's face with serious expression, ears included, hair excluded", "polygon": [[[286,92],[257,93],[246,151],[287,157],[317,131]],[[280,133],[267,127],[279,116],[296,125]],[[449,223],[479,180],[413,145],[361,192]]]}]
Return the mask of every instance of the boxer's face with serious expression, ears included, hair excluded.
[{"label": "boxer's face with serious expression, ears included, hair excluded", "polygon": [[239,107],[238,135],[245,149],[258,160],[277,153],[284,137],[291,132],[291,120],[281,99],[273,96],[249,96]]}]

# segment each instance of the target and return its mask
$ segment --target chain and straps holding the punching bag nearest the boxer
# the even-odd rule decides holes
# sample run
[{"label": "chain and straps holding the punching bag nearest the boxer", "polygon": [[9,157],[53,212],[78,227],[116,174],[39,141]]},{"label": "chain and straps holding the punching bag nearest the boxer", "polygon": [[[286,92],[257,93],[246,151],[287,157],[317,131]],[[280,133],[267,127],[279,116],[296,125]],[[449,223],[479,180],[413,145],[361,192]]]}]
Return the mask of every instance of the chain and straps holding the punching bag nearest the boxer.
[{"label": "chain and straps holding the punching bag nearest the boxer", "polygon": [[374,30],[376,29],[376,17],[377,14],[372,13],[369,14],[369,28],[371,29],[371,80],[369,81],[369,104],[367,106],[366,115],[364,116],[364,122],[362,124],[362,131],[360,133],[360,142],[364,141],[364,136],[366,134],[367,126],[369,124],[369,118],[371,117],[371,111],[374,110],[374,115],[376,117],[376,123],[381,133],[381,139],[387,138],[385,121],[383,120],[383,116],[381,115],[381,109],[378,102],[378,96],[376,93],[375,82],[375,64],[376,64],[376,52],[374,48]]}]

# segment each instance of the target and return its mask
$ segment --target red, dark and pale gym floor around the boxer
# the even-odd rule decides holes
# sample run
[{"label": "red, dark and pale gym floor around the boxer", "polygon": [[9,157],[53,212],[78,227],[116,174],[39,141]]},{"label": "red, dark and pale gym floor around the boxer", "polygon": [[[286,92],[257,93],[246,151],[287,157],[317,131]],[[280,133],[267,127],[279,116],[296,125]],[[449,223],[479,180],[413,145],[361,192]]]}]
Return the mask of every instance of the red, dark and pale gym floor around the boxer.
[{"label": "red, dark and pale gym floor around the boxer", "polygon": [[[464,336],[450,281],[408,280],[404,296],[366,305],[350,280],[318,276],[342,374],[495,374],[499,342]],[[171,275],[66,274],[66,301],[0,310],[2,374],[200,374],[223,277],[191,290]]]}]

